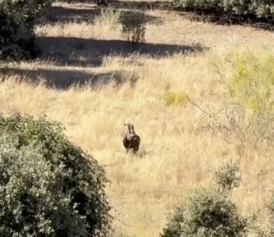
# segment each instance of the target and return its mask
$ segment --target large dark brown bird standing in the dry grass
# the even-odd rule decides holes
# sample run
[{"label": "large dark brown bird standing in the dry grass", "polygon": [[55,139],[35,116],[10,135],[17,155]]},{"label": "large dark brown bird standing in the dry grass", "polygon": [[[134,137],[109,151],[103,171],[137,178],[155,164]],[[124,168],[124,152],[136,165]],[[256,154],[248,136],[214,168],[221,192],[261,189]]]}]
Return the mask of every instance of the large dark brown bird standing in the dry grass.
[{"label": "large dark brown bird standing in the dry grass", "polygon": [[127,123],[124,124],[124,126],[127,126],[128,128],[128,131],[123,139],[123,144],[126,148],[126,153],[128,153],[128,151],[132,149],[133,154],[135,154],[139,150],[141,141],[140,136],[135,133],[133,124]]}]

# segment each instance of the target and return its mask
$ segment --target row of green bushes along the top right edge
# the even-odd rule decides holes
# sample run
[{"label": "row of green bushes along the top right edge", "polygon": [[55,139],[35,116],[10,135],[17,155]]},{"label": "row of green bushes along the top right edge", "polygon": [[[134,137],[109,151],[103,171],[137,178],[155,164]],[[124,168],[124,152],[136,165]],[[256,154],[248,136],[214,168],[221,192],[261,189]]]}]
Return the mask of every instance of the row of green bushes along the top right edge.
[{"label": "row of green bushes along the top right edge", "polygon": [[268,17],[274,14],[272,0],[173,0],[179,9],[221,10],[225,13]]}]

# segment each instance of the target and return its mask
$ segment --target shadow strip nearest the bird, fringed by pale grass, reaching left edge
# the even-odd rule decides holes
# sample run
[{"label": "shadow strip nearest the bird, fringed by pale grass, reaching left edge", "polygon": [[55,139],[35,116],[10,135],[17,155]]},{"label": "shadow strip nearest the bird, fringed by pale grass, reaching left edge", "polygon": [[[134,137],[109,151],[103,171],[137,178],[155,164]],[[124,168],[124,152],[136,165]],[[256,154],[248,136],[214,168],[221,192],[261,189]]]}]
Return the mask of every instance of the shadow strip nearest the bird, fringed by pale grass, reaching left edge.
[{"label": "shadow strip nearest the bird, fringed by pale grass, reaching left edge", "polygon": [[112,83],[114,86],[121,86],[129,82],[134,86],[137,78],[135,75],[123,71],[110,72],[86,72],[81,70],[65,69],[21,69],[4,67],[1,69],[2,80],[8,80],[10,76],[19,76],[24,81],[38,83],[41,80],[49,88],[56,90],[66,90],[71,86],[89,86],[90,88],[100,88]]}]

